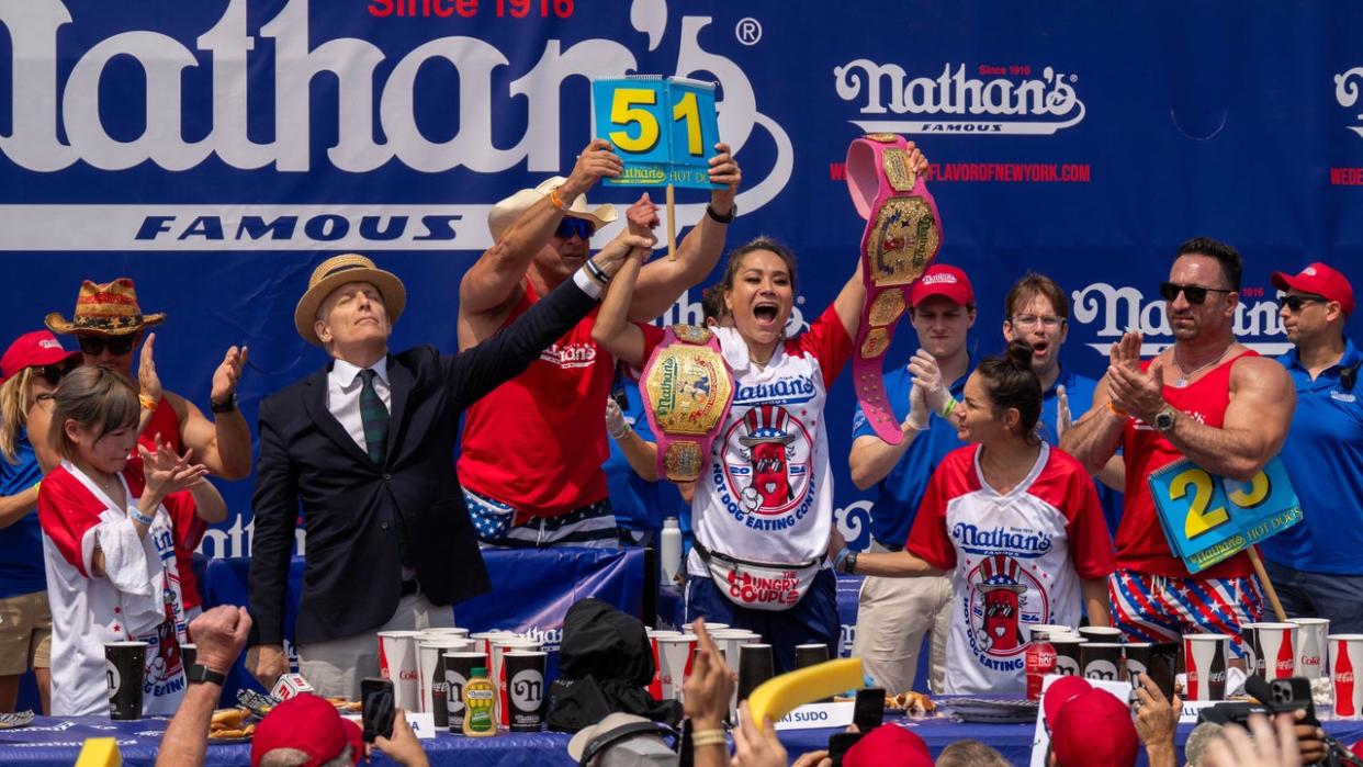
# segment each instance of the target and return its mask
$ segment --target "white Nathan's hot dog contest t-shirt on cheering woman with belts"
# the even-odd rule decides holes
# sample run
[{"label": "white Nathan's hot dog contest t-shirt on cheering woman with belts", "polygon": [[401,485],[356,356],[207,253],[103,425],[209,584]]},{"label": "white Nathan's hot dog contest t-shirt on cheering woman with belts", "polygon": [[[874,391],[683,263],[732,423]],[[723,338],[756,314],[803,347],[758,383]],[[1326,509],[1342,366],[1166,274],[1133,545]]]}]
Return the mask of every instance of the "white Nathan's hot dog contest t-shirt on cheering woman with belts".
[{"label": "white Nathan's hot dog contest t-shirt on cheering woman with belts", "polygon": [[[645,334],[649,356],[662,331],[646,326]],[[795,565],[821,560],[833,526],[823,402],[852,353],[852,339],[829,307],[807,332],[778,345],[759,369],[748,360],[739,331],[714,328],[714,334],[733,372],[735,392],[695,484],[695,538],[711,552],[748,561]],[[695,550],[687,572],[709,576]],[[747,597],[791,598],[780,591],[750,590]],[[741,593],[733,597],[739,604],[751,604]]]}]

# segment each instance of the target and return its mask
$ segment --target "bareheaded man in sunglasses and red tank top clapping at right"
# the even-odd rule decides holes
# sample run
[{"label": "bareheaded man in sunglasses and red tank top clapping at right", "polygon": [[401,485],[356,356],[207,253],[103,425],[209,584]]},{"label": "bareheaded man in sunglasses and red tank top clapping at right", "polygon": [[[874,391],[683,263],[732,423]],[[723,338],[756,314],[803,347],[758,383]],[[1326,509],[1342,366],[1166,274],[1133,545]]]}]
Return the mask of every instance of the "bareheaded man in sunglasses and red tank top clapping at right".
[{"label": "bareheaded man in sunglasses and red tank top clapping at right", "polygon": [[1246,553],[1193,575],[1169,550],[1148,482],[1184,458],[1217,477],[1251,480],[1283,447],[1296,395],[1281,365],[1234,335],[1240,253],[1208,237],[1183,242],[1160,286],[1174,345],[1141,361],[1141,334],[1112,345],[1093,407],[1060,445],[1100,471],[1123,447],[1124,508],[1118,569],[1108,580],[1114,625],[1130,640],[1227,633],[1258,620],[1262,593]]}]

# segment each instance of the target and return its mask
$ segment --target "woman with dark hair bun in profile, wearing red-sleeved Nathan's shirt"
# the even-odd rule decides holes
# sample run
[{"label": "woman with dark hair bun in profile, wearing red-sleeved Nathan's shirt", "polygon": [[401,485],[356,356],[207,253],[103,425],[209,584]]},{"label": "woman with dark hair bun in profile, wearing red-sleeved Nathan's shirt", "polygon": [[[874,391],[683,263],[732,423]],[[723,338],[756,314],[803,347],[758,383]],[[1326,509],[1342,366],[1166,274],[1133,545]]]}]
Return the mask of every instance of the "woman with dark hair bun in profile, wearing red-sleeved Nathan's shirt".
[{"label": "woman with dark hair bun in profile, wearing red-sleeved Nathan's shirt", "polygon": [[932,474],[905,549],[859,554],[833,541],[844,572],[951,575],[949,695],[1021,693],[1024,624],[1078,625],[1082,604],[1092,625],[1111,625],[1097,492],[1082,463],[1037,439],[1040,414],[1032,347],[1014,341],[966,379],[951,416],[969,444]]}]

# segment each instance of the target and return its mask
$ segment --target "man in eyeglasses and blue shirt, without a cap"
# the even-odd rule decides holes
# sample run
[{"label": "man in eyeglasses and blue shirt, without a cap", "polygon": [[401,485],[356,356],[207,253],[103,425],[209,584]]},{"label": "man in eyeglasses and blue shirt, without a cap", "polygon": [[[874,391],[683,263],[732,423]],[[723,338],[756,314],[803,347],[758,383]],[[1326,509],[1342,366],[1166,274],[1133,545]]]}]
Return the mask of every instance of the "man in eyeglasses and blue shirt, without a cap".
[{"label": "man in eyeglasses and blue shirt, without a cap", "polygon": [[[1060,366],[1060,347],[1070,335],[1070,298],[1058,282],[1044,274],[1028,272],[1013,283],[1003,298],[1003,338],[1032,346],[1032,372],[1041,381],[1040,436],[1059,447],[1073,414],[1093,405],[1099,381]],[[1099,499],[1108,529],[1116,531],[1122,519],[1122,458],[1114,455],[1099,471]]]}]

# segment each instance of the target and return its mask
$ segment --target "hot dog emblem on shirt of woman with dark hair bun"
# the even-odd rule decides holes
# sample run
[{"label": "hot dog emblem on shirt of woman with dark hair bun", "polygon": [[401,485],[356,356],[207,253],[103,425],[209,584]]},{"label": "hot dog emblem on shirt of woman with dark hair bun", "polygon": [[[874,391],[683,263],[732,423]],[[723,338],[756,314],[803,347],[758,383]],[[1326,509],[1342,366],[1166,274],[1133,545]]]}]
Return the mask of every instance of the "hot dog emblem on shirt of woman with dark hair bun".
[{"label": "hot dog emblem on shirt of woman with dark hair bun", "polygon": [[991,666],[998,659],[1021,662],[1020,655],[1026,650],[1022,624],[1045,623],[1051,616],[1045,589],[1007,554],[981,559],[966,575],[966,583],[968,639],[976,658]]}]

